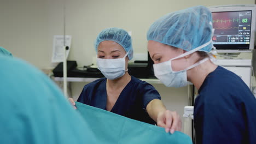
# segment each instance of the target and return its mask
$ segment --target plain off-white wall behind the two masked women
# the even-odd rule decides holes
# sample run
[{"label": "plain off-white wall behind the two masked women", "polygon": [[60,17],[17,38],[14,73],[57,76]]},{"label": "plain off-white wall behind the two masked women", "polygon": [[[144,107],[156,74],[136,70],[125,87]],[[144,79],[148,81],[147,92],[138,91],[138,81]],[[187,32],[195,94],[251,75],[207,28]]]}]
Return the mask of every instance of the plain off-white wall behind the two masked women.
[{"label": "plain off-white wall behind the two masked women", "polygon": [[[53,35],[63,34],[62,0],[0,0],[0,46],[36,67],[53,68]],[[254,4],[254,0],[74,0],[66,2],[66,34],[72,35],[69,60],[79,66],[92,63],[94,40],[107,27],[132,31],[135,53],[147,52],[146,33],[150,24],[172,11],[195,5]],[[85,83],[72,82],[77,98]],[[183,114],[188,104],[187,88],[154,85],[168,109]]]}]

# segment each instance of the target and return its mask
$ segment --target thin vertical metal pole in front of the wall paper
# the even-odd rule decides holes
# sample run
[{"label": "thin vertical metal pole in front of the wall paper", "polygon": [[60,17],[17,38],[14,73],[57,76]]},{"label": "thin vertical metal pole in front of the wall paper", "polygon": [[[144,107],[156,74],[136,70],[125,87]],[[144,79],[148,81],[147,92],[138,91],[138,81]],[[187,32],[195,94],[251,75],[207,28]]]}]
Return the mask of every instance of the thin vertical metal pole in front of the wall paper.
[{"label": "thin vertical metal pole in front of the wall paper", "polygon": [[68,46],[66,46],[66,0],[63,0],[63,29],[64,29],[64,41],[63,41],[63,93],[67,98],[67,56],[66,50],[68,50]]}]

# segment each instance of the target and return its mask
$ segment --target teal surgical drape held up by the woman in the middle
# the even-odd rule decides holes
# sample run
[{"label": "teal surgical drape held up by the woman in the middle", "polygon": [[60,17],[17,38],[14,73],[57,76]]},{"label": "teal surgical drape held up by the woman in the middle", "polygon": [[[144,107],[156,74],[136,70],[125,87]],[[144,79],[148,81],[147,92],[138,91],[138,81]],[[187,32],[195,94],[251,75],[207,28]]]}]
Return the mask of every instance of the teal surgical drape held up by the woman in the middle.
[{"label": "teal surgical drape held up by the woman in the middle", "polygon": [[165,128],[156,125],[135,121],[82,103],[75,104],[101,143],[192,144],[191,138],[181,131],[166,133]]}]

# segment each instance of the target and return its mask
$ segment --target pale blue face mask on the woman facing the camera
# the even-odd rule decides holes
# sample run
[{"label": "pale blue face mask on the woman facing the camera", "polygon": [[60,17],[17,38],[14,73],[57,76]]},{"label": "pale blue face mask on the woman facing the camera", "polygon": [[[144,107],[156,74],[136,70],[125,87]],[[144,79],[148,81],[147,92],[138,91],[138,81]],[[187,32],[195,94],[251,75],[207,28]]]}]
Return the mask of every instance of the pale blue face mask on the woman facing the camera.
[{"label": "pale blue face mask on the woman facing the camera", "polygon": [[125,74],[125,57],[115,59],[97,58],[98,69],[109,80],[118,79]]}]

